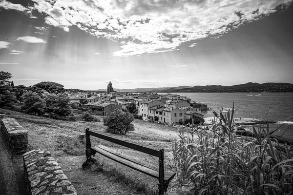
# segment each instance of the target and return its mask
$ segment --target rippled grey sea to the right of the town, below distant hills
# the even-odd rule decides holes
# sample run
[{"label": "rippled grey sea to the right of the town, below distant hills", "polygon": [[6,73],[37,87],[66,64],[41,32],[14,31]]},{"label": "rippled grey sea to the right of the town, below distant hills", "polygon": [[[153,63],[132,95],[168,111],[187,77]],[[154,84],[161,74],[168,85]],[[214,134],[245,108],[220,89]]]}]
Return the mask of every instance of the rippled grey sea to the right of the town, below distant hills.
[{"label": "rippled grey sea to the right of the town, below distant hills", "polygon": [[[167,94],[167,93],[159,93]],[[202,111],[204,117],[231,109],[234,102],[234,117],[258,118],[279,124],[293,125],[293,93],[171,93],[204,103],[211,110]]]}]

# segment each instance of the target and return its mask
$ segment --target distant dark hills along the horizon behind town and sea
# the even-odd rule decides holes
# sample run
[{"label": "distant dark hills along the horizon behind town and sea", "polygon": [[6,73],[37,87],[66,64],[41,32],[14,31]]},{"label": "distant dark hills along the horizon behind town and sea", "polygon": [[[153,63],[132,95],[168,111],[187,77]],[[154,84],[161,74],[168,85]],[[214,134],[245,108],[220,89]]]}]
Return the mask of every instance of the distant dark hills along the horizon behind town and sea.
[{"label": "distant dark hills along the horizon behind town and sea", "polygon": [[[222,86],[222,85],[207,85],[207,86],[179,86],[179,87],[160,87],[160,88],[136,88],[136,89],[117,89],[117,92],[131,93],[264,93],[264,92],[293,92],[292,83],[256,83],[248,82],[246,84]],[[106,89],[84,90],[84,91],[107,91]]]}]

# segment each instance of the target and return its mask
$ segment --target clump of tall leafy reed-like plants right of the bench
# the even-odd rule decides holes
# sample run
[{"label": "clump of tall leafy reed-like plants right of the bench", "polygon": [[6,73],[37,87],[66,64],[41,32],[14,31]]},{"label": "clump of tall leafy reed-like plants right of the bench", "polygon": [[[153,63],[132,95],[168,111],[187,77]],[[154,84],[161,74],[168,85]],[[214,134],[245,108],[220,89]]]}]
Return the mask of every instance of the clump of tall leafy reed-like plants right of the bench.
[{"label": "clump of tall leafy reed-like plants right of the bench", "polygon": [[269,123],[253,128],[254,138],[236,137],[234,104],[210,131],[180,132],[173,143],[180,183],[198,195],[293,195],[293,147],[270,137]]}]

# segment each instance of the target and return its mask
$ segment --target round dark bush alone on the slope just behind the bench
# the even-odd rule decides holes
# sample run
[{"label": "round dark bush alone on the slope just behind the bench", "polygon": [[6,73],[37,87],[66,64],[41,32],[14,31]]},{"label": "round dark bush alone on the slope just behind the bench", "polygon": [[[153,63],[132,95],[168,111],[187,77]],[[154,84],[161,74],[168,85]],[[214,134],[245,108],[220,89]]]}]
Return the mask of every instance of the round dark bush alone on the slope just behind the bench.
[{"label": "round dark bush alone on the slope just behind the bench", "polygon": [[130,113],[116,109],[104,118],[104,125],[107,126],[106,132],[125,135],[128,131],[134,131],[132,121]]}]

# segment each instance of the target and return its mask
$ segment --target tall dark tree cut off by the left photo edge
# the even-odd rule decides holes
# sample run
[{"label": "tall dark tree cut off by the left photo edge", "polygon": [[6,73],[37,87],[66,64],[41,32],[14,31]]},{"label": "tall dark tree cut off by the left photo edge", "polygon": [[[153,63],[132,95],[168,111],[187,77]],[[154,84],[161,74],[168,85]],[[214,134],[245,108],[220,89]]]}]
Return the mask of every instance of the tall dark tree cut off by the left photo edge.
[{"label": "tall dark tree cut off by the left photo edge", "polygon": [[0,107],[13,107],[17,101],[12,92],[9,79],[12,78],[8,72],[0,71]]}]

